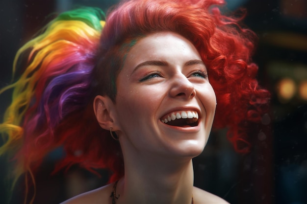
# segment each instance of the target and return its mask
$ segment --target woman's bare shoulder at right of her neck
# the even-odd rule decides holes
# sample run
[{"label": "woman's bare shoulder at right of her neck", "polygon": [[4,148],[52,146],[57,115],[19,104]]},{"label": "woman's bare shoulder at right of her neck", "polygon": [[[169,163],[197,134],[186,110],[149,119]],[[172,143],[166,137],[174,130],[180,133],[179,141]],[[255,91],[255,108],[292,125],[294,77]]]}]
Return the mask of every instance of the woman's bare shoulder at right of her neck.
[{"label": "woman's bare shoulder at right of her neck", "polygon": [[193,188],[194,204],[229,204],[224,199],[198,187]]}]

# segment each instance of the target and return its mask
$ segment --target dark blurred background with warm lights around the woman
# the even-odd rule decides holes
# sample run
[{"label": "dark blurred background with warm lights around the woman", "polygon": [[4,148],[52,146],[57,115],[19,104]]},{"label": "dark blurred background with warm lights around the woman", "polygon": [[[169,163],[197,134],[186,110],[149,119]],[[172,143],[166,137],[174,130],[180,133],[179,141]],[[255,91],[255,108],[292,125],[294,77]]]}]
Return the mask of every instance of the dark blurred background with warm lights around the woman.
[{"label": "dark blurred background with warm lights around the woman", "polygon": [[[56,13],[78,5],[104,11],[116,0],[0,0],[0,88],[11,80],[13,58]],[[236,153],[226,130],[213,131],[204,153],[194,159],[195,185],[231,204],[307,204],[307,1],[227,0],[227,12],[247,9],[244,23],[259,37],[254,61],[260,85],[272,93],[270,113],[256,128],[251,153]],[[0,117],[10,94],[0,95]],[[0,142],[3,142],[0,140]],[[54,151],[36,175],[35,204],[56,204],[104,185],[78,167],[51,175],[62,156]],[[24,202],[25,183],[9,192],[0,159],[0,204]],[[31,195],[32,186],[29,186]],[[33,193],[33,192],[32,192]]]}]

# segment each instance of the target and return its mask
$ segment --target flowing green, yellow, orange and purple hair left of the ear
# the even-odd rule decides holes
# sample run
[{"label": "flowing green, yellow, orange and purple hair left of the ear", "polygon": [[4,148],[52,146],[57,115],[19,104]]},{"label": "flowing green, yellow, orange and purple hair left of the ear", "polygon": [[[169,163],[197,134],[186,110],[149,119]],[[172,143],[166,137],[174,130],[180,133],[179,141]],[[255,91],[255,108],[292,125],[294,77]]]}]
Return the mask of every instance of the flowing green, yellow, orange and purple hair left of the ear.
[{"label": "flowing green, yellow, orange and purple hair left of the ear", "polygon": [[[5,141],[0,155],[8,153],[16,160],[14,183],[24,172],[32,175],[42,159],[61,145],[67,153],[67,159],[62,161],[66,165],[77,162],[78,157],[73,161],[69,158],[83,150],[78,146],[91,148],[87,146],[91,138],[90,127],[86,129],[89,124],[82,124],[86,128],[79,132],[76,127],[80,127],[81,122],[75,121],[74,113],[79,113],[78,117],[93,116],[86,107],[90,97],[90,75],[105,23],[103,16],[98,8],[62,13],[41,35],[17,52],[13,74],[21,64],[26,64],[26,68],[18,81],[0,90],[2,93],[13,89],[12,103],[0,124]],[[91,122],[95,124],[95,121],[88,121]],[[82,137],[83,134],[86,137]],[[86,161],[84,163],[87,167]]]}]

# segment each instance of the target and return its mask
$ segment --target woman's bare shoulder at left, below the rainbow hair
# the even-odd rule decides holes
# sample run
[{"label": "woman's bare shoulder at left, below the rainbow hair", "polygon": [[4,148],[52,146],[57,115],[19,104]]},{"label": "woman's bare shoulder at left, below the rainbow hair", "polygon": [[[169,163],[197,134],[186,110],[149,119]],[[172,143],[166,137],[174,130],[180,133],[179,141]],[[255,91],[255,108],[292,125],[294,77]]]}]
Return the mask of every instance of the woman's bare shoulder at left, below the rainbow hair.
[{"label": "woman's bare shoulder at left, below the rainbow hair", "polygon": [[61,204],[110,204],[113,183],[77,195]]}]

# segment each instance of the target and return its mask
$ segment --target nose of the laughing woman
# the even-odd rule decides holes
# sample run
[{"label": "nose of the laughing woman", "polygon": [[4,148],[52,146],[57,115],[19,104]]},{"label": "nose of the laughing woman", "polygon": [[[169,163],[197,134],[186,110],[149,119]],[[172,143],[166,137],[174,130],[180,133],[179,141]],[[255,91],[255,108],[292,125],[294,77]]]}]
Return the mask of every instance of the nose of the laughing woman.
[{"label": "nose of the laughing woman", "polygon": [[171,97],[183,99],[190,99],[196,96],[194,85],[181,73],[174,76],[169,93]]}]

